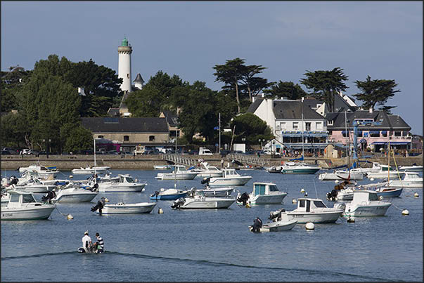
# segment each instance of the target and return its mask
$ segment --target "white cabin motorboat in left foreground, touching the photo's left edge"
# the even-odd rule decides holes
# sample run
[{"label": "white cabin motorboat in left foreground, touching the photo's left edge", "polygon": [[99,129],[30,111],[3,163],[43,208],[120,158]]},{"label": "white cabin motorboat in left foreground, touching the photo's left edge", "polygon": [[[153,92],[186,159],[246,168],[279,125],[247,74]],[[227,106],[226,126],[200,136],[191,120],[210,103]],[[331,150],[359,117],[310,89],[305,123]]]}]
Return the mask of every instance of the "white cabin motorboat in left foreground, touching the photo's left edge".
[{"label": "white cabin motorboat in left foreground, touching the photo's left edge", "polygon": [[47,219],[56,208],[54,204],[37,202],[31,192],[10,190],[11,195],[6,206],[1,207],[1,220],[37,220]]}]

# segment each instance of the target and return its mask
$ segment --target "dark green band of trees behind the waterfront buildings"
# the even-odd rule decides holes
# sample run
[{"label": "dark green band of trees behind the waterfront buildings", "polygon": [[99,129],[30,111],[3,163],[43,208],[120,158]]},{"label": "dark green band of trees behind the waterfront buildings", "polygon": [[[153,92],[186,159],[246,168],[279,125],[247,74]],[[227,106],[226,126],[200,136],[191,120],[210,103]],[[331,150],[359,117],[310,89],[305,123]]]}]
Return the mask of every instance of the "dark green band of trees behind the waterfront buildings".
[{"label": "dark green band of trees behind the waterfront buildings", "polygon": [[[268,81],[260,77],[266,69],[262,65],[245,65],[245,60],[226,60],[215,65],[215,81],[223,86],[220,91],[207,88],[205,82],[190,84],[178,75],[172,77],[159,71],[150,77],[142,90],[131,93],[125,103],[133,117],[158,117],[162,110],[179,113],[180,129],[185,136],[181,142],[196,143],[195,133],[205,137],[205,143],[218,141],[216,127],[221,114],[221,126],[230,125],[234,136],[222,133],[221,142],[245,141],[258,144],[259,139],[269,140],[273,134],[266,123],[252,114],[243,114],[252,103],[252,98],[264,93],[268,98],[299,99],[313,96],[334,106],[334,96],[346,91],[348,77],[343,70],[307,71],[299,84],[292,81]],[[1,143],[7,146],[40,150],[46,148],[46,141],[53,150],[77,151],[92,147],[91,133],[79,123],[81,117],[105,117],[110,107],[119,107],[122,99],[120,84],[115,71],[96,65],[95,62],[70,62],[57,55],[39,60],[34,70],[11,67],[1,72],[2,112],[18,110],[18,114],[1,117]],[[390,112],[392,106],[385,105],[399,90],[394,80],[371,79],[356,81],[361,91],[355,96],[364,107],[379,106]],[[84,88],[80,96],[77,88]],[[235,127],[235,128],[234,128]]]}]

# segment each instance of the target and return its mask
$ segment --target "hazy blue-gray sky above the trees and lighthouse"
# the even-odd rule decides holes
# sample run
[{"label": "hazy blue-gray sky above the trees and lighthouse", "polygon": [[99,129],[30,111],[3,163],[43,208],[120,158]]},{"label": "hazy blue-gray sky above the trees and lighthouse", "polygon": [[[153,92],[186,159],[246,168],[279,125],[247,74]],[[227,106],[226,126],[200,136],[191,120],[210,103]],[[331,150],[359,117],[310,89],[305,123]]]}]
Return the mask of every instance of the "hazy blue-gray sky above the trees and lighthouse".
[{"label": "hazy blue-gray sky above the trees and lighthouse", "polygon": [[124,37],[131,80],[162,70],[218,91],[212,67],[234,58],[295,84],[340,67],[348,96],[368,75],[394,79],[387,105],[423,135],[422,1],[1,1],[2,71],[51,54],[117,71]]}]

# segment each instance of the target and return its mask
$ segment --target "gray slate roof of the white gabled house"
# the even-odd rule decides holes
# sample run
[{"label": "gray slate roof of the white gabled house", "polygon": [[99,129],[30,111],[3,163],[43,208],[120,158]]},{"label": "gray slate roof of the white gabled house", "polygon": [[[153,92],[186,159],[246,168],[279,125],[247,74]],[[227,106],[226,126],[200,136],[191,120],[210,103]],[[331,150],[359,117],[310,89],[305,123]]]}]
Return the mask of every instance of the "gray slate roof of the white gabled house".
[{"label": "gray slate roof of the white gabled house", "polygon": [[300,100],[274,100],[274,115],[276,119],[325,119],[311,107]]}]

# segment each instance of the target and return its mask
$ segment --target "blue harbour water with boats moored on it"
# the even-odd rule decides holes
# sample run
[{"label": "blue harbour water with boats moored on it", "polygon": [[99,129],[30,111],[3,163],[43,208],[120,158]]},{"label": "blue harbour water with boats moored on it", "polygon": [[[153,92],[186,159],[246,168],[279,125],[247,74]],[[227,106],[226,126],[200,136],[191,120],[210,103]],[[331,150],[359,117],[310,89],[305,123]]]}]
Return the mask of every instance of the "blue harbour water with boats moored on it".
[{"label": "blue harbour water with boats moored on it", "polygon": [[[356,218],[355,223],[340,218],[316,224],[314,231],[296,225],[290,231],[252,233],[248,225],[257,216],[266,222],[269,211],[281,205],[174,211],[172,201],[159,201],[150,214],[98,216],[90,209],[99,197],[112,203],[150,202],[150,193],[174,186],[172,180],[155,180],[158,171],[112,172],[147,180],[146,191],[99,193],[91,204],[58,204],[61,213],[74,216],[70,221],[56,210],[47,221],[2,221],[1,281],[423,281],[423,190],[404,189],[391,199],[384,217]],[[240,192],[250,192],[253,181],[271,181],[288,192],[286,210],[295,209],[292,199],[302,197],[302,187],[309,197],[317,192],[333,206],[326,192],[335,184],[319,181],[318,174],[239,173],[253,177],[238,187]],[[178,184],[199,187],[200,179]],[[410,215],[402,216],[403,209]],[[77,253],[85,230],[91,239],[100,232],[105,254]]]}]

